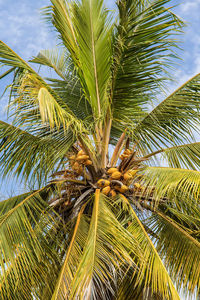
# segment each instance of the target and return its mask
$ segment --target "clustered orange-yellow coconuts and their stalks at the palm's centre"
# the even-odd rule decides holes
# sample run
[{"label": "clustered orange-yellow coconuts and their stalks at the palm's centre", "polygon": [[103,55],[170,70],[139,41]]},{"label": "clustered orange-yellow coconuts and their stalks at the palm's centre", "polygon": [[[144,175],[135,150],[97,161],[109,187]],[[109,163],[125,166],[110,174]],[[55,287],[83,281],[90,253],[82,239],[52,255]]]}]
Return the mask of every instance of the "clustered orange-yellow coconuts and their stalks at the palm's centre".
[{"label": "clustered orange-yellow coconuts and their stalks at the palm's centre", "polygon": [[61,186],[59,195],[51,199],[50,205],[67,218],[75,203],[85,201],[95,189],[100,189],[102,194],[111,198],[117,194],[129,197],[134,193],[140,196],[144,190],[138,182],[138,171],[143,160],[127,147],[122,154],[119,149],[114,155],[116,162],[112,163],[111,159],[109,165],[97,173],[82,147],[74,146],[73,152],[67,156],[67,168],[52,174],[52,182],[61,182]]}]

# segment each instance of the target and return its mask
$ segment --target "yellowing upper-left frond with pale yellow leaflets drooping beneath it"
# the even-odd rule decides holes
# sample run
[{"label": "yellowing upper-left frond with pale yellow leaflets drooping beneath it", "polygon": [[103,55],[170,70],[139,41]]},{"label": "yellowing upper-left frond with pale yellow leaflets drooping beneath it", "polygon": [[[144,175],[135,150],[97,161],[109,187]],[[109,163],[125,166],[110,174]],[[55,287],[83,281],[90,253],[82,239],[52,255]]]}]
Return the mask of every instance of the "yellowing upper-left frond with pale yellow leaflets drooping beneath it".
[{"label": "yellowing upper-left frond with pale yellow leaflets drooping beneath it", "polygon": [[4,64],[18,67],[11,85],[10,101],[15,124],[26,128],[38,126],[42,121],[52,130],[59,131],[61,127],[64,131],[70,129],[76,138],[84,143],[95,165],[92,141],[88,139],[95,126],[86,128],[86,124],[69,109],[67,101],[63,101],[42,77],[2,42],[0,42],[0,58]]}]

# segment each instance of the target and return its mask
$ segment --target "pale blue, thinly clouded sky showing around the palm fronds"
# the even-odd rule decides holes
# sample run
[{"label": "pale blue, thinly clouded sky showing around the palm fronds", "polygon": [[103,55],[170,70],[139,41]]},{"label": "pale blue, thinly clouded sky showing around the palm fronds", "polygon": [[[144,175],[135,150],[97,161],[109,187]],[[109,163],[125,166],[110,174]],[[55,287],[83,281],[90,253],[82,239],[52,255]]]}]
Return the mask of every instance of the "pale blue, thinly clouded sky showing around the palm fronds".
[{"label": "pale blue, thinly clouded sky showing around the palm fronds", "polygon": [[[114,8],[114,0],[105,1],[109,8]],[[53,48],[58,41],[53,32],[44,23],[40,9],[49,5],[47,0],[0,0],[0,39],[9,45],[25,60],[36,56],[41,49]],[[175,12],[187,24],[182,37],[181,61],[173,75],[176,83],[169,92],[190,77],[200,72],[200,0],[172,0],[171,5],[178,5]],[[3,84],[0,82],[0,94]],[[0,119],[6,120],[6,97],[0,100]],[[7,182],[0,178],[0,199],[23,191],[24,186],[15,180]]]}]

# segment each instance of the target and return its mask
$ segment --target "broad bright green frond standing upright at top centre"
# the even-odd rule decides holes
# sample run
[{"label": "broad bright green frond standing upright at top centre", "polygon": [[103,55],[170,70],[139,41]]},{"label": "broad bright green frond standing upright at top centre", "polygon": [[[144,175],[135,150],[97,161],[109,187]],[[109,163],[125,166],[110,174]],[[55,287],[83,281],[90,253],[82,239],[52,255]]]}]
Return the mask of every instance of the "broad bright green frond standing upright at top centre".
[{"label": "broad bright green frond standing upright at top centre", "polygon": [[111,19],[102,0],[98,3],[91,0],[70,5],[63,0],[51,2],[52,7],[45,8],[44,15],[56,27],[70,52],[85,97],[91,104],[94,117],[99,119],[102,113],[105,115],[108,105]]}]

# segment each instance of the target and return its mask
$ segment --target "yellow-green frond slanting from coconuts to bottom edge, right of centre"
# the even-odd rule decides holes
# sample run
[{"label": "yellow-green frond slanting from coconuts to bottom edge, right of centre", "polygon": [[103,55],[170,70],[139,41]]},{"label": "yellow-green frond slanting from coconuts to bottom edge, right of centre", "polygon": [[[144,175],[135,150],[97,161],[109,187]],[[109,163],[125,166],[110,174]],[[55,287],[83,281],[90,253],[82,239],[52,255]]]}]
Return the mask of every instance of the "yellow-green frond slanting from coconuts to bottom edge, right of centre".
[{"label": "yellow-green frond slanting from coconuts to bottom edge, right of centre", "polygon": [[180,299],[170,275],[142,222],[128,200],[124,196],[121,196],[121,200],[124,205],[127,205],[126,210],[131,216],[131,224],[127,230],[137,239],[145,257],[143,264],[138,266],[139,272],[136,283],[140,285],[144,284],[143,281],[145,281],[145,287],[150,287],[152,293],[158,293],[164,299]]}]

